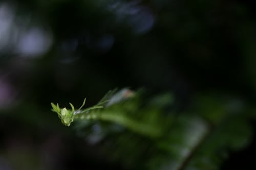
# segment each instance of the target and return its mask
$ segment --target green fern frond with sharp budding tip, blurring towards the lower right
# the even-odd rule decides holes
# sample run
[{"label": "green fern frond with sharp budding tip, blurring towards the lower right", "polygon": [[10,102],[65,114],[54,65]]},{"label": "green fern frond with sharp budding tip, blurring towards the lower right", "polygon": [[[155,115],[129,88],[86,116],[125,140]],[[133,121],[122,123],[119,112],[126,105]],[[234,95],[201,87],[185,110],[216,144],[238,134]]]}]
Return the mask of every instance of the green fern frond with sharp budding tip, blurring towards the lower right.
[{"label": "green fern frond with sharp budding tip, blurring towards the lower right", "polygon": [[[233,115],[236,112],[232,111],[216,123],[207,116],[218,107],[203,112],[207,119],[202,119],[196,113],[166,111],[172,103],[159,107],[158,103],[164,103],[159,96],[143,102],[139,92],[122,89],[111,93],[103,98],[104,108],[75,111],[72,106],[59,118],[66,125],[64,114],[72,114],[78,134],[93,144],[100,143],[109,159],[126,169],[219,169],[228,150],[239,150],[251,139],[248,117],[241,113]],[[53,111],[63,110],[52,107]]]}]

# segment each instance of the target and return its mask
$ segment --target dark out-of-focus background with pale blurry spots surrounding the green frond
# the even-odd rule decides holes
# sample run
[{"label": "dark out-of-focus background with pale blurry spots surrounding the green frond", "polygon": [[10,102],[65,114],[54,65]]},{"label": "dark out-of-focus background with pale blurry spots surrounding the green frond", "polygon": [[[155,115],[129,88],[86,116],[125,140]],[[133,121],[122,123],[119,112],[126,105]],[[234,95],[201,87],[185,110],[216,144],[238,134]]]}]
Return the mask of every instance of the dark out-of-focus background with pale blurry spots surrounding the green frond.
[{"label": "dark out-of-focus background with pale blurry spots surrounding the green frond", "polygon": [[[91,106],[110,89],[145,87],[172,91],[177,112],[202,93],[253,107],[255,31],[253,1],[0,1],[0,169],[119,168],[51,102]],[[223,169],[255,167],[254,145]]]}]

